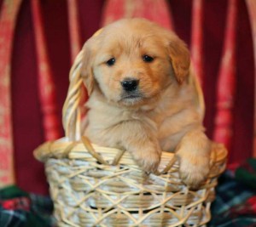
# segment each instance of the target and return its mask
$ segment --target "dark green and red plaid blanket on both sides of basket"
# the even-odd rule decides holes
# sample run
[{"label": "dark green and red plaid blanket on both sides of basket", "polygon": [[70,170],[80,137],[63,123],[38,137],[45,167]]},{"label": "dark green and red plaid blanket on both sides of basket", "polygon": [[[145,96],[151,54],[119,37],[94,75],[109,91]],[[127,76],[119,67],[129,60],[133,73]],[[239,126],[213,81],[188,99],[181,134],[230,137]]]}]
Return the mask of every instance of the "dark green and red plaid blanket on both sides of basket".
[{"label": "dark green and red plaid blanket on both sides of basket", "polygon": [[[256,159],[226,171],[219,179],[208,227],[256,227]],[[50,227],[53,204],[48,196],[28,194],[16,186],[0,190],[1,227]]]}]

